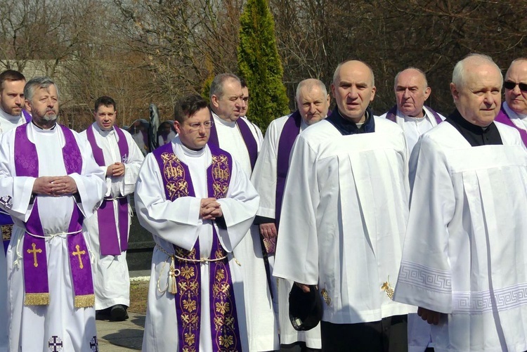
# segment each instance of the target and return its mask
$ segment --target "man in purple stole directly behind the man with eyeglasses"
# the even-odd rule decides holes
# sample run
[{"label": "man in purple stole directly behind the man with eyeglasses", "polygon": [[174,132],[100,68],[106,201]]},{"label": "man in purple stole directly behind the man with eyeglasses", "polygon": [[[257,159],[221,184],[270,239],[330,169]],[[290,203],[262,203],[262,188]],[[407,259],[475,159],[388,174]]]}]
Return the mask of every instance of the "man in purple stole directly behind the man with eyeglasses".
[{"label": "man in purple stole directly behind the man with eyeglasses", "polygon": [[[263,136],[260,129],[240,117],[245,106],[240,79],[234,74],[219,74],[210,86],[210,107],[214,124],[209,144],[226,150],[238,161],[245,174],[252,175]],[[245,275],[245,296],[251,351],[278,349],[278,322],[271,301],[271,289],[263,262],[258,226],[236,247],[235,256],[242,264]]]}]

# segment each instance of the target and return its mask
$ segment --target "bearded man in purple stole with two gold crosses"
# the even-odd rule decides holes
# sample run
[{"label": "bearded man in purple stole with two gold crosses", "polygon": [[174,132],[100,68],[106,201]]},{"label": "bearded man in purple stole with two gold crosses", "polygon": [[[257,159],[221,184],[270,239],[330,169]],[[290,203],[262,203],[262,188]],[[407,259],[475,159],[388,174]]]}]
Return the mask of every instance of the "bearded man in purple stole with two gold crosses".
[{"label": "bearded man in purple stole with two gold crosses", "polygon": [[9,351],[97,348],[91,258],[82,230],[106,192],[84,138],[56,123],[59,93],[25,85],[32,122],[0,142],[0,206],[15,226],[6,254]]}]

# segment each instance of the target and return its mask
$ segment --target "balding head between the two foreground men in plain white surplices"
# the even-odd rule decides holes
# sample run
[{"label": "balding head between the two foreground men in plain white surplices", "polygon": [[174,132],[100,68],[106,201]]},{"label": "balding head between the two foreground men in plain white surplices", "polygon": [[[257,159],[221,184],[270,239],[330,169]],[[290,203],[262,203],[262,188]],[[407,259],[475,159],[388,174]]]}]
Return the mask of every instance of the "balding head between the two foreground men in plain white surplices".
[{"label": "balding head between the two foreground men in plain white surplices", "polygon": [[406,116],[423,117],[423,105],[431,93],[427,77],[415,67],[408,67],[396,75],[393,89],[397,109]]}]

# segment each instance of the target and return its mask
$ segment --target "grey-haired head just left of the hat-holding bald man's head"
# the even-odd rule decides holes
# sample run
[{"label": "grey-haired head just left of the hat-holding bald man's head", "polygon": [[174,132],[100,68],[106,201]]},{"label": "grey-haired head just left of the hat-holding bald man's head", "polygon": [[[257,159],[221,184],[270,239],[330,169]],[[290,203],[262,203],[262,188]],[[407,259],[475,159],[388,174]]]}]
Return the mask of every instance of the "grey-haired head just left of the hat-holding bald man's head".
[{"label": "grey-haired head just left of the hat-holding bald man's head", "polygon": [[327,116],[330,95],[319,79],[304,79],[297,86],[297,105],[306,124],[314,124]]}]

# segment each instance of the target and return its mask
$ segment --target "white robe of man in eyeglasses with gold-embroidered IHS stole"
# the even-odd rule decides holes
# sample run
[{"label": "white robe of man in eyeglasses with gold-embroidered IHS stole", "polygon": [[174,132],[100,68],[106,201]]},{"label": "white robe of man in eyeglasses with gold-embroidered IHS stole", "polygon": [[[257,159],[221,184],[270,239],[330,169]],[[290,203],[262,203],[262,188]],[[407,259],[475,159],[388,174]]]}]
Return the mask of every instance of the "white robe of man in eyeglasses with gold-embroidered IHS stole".
[{"label": "white robe of man in eyeglasses with gold-embroidered IHS stole", "polygon": [[[193,181],[195,197],[180,197],[174,202],[167,201],[160,174],[160,167],[155,156],[147,155],[136,185],[136,211],[141,225],[153,234],[156,247],[152,255],[152,272],[148,289],[148,309],[143,336],[143,351],[177,351],[178,321],[174,294],[167,291],[169,256],[174,253],[174,245],[190,250],[199,240],[200,256],[209,258],[212,248],[212,221],[200,219],[202,198],[207,198],[207,167],[212,162],[208,147],[193,151],[181,145],[176,137],[172,140],[174,153],[181,162],[188,165]],[[233,280],[238,325],[243,351],[249,351],[244,302],[245,278],[242,269],[235,263],[233,249],[240,242],[251,226],[259,196],[247,175],[240,169],[240,164],[233,161],[233,170],[226,198],[219,199],[227,229],[216,226],[220,244],[228,252],[229,268]],[[160,249],[161,248],[161,249]],[[243,266],[243,263],[242,263]],[[209,264],[201,264],[201,325],[200,351],[212,351],[212,337],[209,313]]]}]

